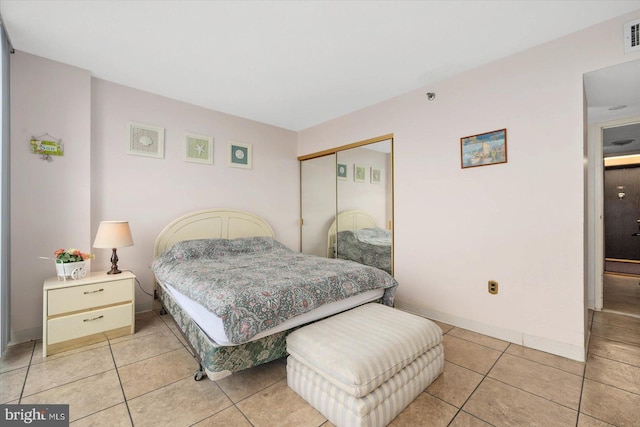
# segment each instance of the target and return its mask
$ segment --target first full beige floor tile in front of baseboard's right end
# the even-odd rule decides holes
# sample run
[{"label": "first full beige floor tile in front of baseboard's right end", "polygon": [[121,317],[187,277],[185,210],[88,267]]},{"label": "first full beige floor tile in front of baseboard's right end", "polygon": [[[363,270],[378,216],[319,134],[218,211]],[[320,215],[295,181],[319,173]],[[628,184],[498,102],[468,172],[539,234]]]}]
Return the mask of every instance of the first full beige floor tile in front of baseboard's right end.
[{"label": "first full beige floor tile in front of baseboard's right end", "polygon": [[582,376],[504,354],[489,377],[521,390],[578,410]]}]

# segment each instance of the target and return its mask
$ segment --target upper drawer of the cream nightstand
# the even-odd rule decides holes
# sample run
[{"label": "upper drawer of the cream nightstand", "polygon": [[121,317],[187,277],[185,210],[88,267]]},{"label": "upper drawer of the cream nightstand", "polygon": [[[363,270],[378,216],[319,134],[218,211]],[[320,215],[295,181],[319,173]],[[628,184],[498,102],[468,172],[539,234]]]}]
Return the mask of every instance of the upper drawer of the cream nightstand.
[{"label": "upper drawer of the cream nightstand", "polygon": [[47,315],[55,316],[131,301],[131,283],[131,279],[124,279],[50,290]]}]

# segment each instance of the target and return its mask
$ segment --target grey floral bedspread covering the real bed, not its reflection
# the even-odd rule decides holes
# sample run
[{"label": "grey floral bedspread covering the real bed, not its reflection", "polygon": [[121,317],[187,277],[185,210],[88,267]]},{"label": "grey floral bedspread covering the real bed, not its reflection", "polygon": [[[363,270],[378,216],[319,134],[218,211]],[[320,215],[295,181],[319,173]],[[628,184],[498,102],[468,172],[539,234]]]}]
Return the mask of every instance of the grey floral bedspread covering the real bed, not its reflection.
[{"label": "grey floral bedspread covering the real bed, not its reflection", "polygon": [[382,270],[294,252],[270,237],[179,242],[158,256],[156,279],[222,319],[229,340],[254,335],[324,304],[398,283]]}]

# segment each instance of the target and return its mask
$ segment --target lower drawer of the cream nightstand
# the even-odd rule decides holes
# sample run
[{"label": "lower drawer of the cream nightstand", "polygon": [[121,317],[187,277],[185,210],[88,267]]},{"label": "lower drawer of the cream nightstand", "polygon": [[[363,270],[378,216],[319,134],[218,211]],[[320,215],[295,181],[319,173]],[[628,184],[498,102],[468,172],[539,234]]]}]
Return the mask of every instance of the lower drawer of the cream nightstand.
[{"label": "lower drawer of the cream nightstand", "polygon": [[51,345],[130,326],[132,310],[131,304],[124,304],[51,319],[48,322],[47,343]]}]

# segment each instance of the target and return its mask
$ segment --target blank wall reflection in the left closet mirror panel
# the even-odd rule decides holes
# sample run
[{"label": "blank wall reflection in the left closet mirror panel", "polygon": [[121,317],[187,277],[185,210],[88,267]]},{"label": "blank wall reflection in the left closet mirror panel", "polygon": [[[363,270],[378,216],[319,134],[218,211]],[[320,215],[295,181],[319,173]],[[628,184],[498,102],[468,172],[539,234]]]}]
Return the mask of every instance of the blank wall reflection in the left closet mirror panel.
[{"label": "blank wall reflection in the left closet mirror panel", "polygon": [[336,155],[300,162],[301,251],[327,256],[327,229],[336,215]]}]

